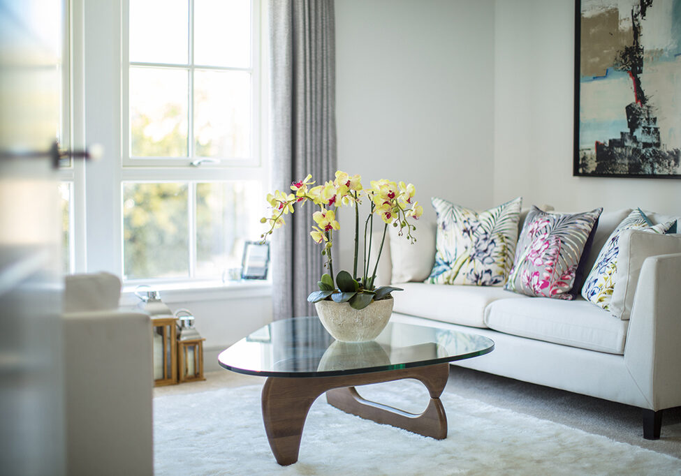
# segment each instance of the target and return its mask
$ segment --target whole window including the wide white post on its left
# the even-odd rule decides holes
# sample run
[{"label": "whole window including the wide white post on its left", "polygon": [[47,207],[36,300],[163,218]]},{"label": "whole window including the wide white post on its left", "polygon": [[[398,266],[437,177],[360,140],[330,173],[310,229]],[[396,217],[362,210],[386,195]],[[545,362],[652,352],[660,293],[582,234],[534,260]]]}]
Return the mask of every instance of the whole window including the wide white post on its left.
[{"label": "whole window including the wide white post on its left", "polygon": [[87,166],[87,269],[226,278],[266,206],[261,0],[85,6],[85,122],[105,149]]}]

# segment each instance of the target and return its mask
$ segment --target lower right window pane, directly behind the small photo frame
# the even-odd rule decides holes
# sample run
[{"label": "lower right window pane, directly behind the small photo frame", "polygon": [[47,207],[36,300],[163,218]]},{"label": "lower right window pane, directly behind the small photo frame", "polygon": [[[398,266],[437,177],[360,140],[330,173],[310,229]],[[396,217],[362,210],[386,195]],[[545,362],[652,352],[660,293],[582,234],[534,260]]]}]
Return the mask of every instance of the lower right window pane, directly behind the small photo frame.
[{"label": "lower right window pane, directly behind the small photo frame", "polygon": [[257,181],[196,185],[197,276],[241,266],[244,241],[260,236],[263,203]]}]

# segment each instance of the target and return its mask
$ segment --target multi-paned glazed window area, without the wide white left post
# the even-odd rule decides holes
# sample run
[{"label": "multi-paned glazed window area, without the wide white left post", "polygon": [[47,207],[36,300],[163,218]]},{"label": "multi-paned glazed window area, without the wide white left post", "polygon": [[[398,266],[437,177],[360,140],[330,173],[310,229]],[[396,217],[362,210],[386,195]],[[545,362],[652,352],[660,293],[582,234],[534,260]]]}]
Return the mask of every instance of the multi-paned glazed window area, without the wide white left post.
[{"label": "multi-paned glazed window area, without the wide white left post", "polygon": [[256,3],[129,0],[122,84],[128,281],[221,278],[240,265],[244,241],[258,236]]}]

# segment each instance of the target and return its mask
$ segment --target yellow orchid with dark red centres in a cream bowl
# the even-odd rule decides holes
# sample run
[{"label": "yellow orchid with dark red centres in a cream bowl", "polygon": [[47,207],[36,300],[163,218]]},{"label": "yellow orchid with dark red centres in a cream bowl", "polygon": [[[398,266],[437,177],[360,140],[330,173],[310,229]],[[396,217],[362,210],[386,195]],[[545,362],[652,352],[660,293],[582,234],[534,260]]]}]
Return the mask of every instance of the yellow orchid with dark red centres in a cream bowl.
[{"label": "yellow orchid with dark red centres in a cream bowl", "polygon": [[[284,217],[295,211],[305,202],[312,202],[316,208],[312,214],[315,224],[310,236],[322,246],[322,255],[328,272],[321,275],[318,290],[307,297],[314,302],[317,314],[328,332],[339,341],[370,341],[380,334],[390,319],[393,311],[391,292],[401,290],[393,286],[376,288],[376,269],[378,267],[383,243],[386,240],[388,226],[399,228],[399,235],[406,235],[411,243],[416,238],[411,235],[416,226],[412,220],[418,220],[423,214],[423,207],[414,199],[416,188],[403,181],[395,183],[381,179],[371,181],[371,188],[363,188],[359,175],[350,176],[337,171],[335,179],[323,185],[313,186],[312,175],[291,184],[292,193],[275,191],[267,195],[272,207],[272,216],[263,217],[261,223],[267,223],[269,230],[263,233],[263,240],[274,230],[284,225]],[[364,252],[359,260],[360,216],[359,205],[363,200],[369,202],[369,211],[364,220]],[[352,274],[340,271],[334,278],[332,246],[333,232],[340,230],[336,211],[340,207],[355,209],[355,255]],[[383,237],[376,260],[372,263],[372,244],[370,236],[374,227],[374,216],[379,216],[383,223]],[[358,266],[361,267],[358,269]]]}]

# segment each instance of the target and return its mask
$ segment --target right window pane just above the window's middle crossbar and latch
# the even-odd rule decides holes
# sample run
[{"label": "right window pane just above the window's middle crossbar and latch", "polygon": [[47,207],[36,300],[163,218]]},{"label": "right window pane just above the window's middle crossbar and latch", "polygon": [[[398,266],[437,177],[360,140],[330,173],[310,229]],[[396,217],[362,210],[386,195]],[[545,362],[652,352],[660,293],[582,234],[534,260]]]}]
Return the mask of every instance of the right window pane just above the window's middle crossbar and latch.
[{"label": "right window pane just above the window's middle crossbar and latch", "polygon": [[251,154],[251,75],[242,71],[194,73],[196,155],[248,158]]}]

